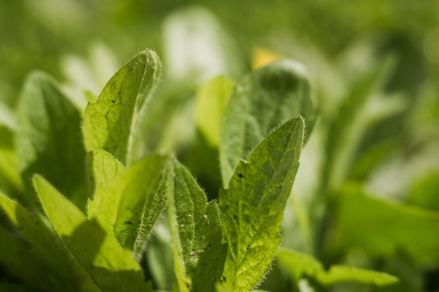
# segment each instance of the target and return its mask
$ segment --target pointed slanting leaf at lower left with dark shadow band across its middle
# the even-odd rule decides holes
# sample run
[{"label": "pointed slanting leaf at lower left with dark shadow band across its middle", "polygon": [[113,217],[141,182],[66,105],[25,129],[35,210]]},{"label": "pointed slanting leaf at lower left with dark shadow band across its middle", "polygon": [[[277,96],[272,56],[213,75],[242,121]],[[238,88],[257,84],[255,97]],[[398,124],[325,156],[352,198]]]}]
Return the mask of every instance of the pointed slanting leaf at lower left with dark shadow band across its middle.
[{"label": "pointed slanting leaf at lower left with dark shadow band across its middle", "polygon": [[130,251],[41,176],[34,186],[50,223],[98,291],[151,291]]}]

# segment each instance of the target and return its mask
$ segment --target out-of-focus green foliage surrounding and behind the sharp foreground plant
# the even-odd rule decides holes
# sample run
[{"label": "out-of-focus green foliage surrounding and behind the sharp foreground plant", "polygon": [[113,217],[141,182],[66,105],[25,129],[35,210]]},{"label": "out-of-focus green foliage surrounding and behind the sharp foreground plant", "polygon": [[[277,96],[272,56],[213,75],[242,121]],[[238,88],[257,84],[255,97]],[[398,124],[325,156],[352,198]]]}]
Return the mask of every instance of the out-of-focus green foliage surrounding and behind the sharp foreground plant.
[{"label": "out-of-focus green foliage surrounding and behind the sharp foreground plant", "polygon": [[[217,149],[196,130],[193,111],[205,90],[200,85],[218,75],[238,81],[278,57],[302,62],[311,73],[320,116],[285,211],[283,245],[313,254],[326,267],[351,264],[402,279],[393,288],[360,290],[348,283],[330,291],[439,289],[437,256],[426,263],[428,255],[419,259],[410,252],[421,246],[405,248],[417,235],[401,235],[402,243],[380,240],[391,237],[389,230],[410,232],[391,228],[398,218],[426,228],[418,228],[424,235],[417,240],[438,236],[433,221],[439,210],[439,0],[0,1],[0,154],[8,158],[0,161],[0,188],[13,197],[24,188],[7,165],[16,160],[14,111],[30,71],[55,76],[83,109],[122,62],[144,48],[158,52],[164,72],[156,92],[161,98],[151,101],[151,116],[142,125],[150,133],[145,142],[151,151],[177,151],[209,197],[215,197],[209,190],[217,189],[219,179],[205,165],[217,164],[217,158],[197,162],[196,154],[209,157]],[[346,190],[348,182],[356,187]],[[349,209],[366,203],[363,213]],[[351,220],[356,215],[370,223],[363,215],[374,216],[377,209],[380,217],[372,223],[379,227],[382,219],[389,226],[369,226],[375,232],[369,235],[377,237],[368,244],[358,239],[367,230]],[[428,214],[430,227],[404,210]],[[173,276],[163,271],[171,263],[165,254],[154,259],[152,253],[166,242],[162,233],[154,235],[148,265],[164,289]],[[337,242],[340,237],[345,241]],[[392,249],[381,253],[382,242],[391,242]],[[278,281],[283,286],[276,290]],[[288,272],[275,267],[262,288],[285,286],[292,287]],[[308,282],[299,287],[310,291]]]}]

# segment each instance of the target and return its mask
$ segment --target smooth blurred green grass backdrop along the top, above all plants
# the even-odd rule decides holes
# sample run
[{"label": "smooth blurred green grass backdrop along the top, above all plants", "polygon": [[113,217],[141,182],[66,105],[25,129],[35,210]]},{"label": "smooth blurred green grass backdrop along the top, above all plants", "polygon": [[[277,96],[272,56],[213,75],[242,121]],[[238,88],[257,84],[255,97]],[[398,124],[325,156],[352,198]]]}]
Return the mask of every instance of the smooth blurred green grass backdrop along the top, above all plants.
[{"label": "smooth blurred green grass backdrop along the top, above all plants", "polygon": [[337,62],[353,44],[367,43],[353,62],[361,66],[367,58],[362,53],[371,48],[396,52],[401,88],[415,90],[425,76],[439,71],[437,0],[1,1],[1,99],[13,106],[32,69],[62,81],[62,58],[85,57],[97,42],[110,48],[119,63],[143,48],[157,50],[166,68],[164,27],[170,13],[191,5],[215,15],[245,64],[257,47],[295,57],[298,46]]}]

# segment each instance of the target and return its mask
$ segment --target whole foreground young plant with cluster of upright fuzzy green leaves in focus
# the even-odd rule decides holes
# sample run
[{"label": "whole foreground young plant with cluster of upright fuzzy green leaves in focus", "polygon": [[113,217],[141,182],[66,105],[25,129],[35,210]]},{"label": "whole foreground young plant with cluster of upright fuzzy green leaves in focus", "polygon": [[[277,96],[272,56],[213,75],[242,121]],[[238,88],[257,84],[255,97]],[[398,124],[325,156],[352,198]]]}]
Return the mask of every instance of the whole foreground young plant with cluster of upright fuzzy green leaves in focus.
[{"label": "whole foreground young plant with cluster of upright fuzzy green leaves in focus", "polygon": [[[156,53],[135,55],[82,118],[46,74],[29,77],[15,133],[22,182],[11,189],[20,195],[0,193],[7,218],[0,220],[0,263],[11,267],[8,278],[18,284],[0,288],[153,291],[158,284],[145,251],[158,221],[168,221],[170,231],[175,283],[168,289],[251,291],[269,272],[305,125],[311,132],[316,118],[306,71],[280,60],[245,76],[234,90],[224,78],[213,81],[227,88],[212,95],[227,105],[212,118],[198,111],[197,127],[217,153],[210,159],[220,164],[212,172],[222,181],[219,202],[208,202],[175,153],[147,148],[143,122],[160,72]],[[324,272],[316,260],[285,249],[278,258],[290,270],[296,263],[299,270],[313,267],[298,274],[323,284],[395,281],[343,267]]]}]

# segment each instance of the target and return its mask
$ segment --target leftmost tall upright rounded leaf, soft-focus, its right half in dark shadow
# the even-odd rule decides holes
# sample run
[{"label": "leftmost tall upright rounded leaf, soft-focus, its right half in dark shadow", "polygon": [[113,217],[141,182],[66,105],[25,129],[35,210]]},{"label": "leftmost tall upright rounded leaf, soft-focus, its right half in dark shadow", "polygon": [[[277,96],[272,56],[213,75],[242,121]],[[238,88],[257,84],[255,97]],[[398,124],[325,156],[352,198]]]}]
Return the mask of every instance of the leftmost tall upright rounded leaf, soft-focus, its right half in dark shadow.
[{"label": "leftmost tall upright rounded leaf, soft-focus, its right half in dark shadow", "polygon": [[32,190],[32,175],[45,176],[76,206],[86,204],[86,153],[81,116],[52,78],[34,72],[18,103],[18,169]]}]

